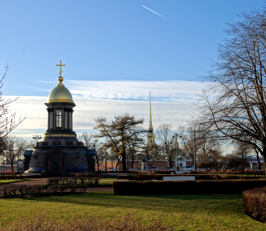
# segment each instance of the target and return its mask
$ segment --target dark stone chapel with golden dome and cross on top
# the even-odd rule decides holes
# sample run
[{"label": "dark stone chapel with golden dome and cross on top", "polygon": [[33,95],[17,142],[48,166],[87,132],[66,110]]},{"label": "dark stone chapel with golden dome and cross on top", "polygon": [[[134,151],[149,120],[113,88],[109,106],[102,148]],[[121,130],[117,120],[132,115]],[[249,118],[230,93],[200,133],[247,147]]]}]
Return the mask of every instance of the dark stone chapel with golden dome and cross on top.
[{"label": "dark stone chapel with golden dome and cross on top", "polygon": [[73,101],[70,91],[58,77],[58,84],[50,92],[47,102],[47,130],[33,150],[24,153],[26,173],[41,173],[43,176],[66,176],[80,172],[94,172],[94,149],[87,149],[79,142],[73,131]]}]

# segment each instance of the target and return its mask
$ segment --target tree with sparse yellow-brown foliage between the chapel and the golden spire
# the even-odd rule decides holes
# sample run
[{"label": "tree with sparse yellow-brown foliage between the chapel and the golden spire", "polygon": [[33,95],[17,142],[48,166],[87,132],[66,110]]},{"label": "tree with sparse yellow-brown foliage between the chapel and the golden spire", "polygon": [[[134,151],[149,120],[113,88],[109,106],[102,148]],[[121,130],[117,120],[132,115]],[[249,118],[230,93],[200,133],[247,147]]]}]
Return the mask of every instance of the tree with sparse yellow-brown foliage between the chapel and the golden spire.
[{"label": "tree with sparse yellow-brown foliage between the chapel and the golden spire", "polygon": [[123,171],[127,170],[126,148],[136,136],[148,132],[143,129],[143,119],[135,119],[135,116],[130,116],[128,113],[114,117],[114,120],[109,123],[106,117],[97,117],[94,119],[96,126],[94,129],[99,129],[100,133],[95,135],[96,138],[106,138],[103,145],[106,148],[111,148],[113,153],[121,155]]}]

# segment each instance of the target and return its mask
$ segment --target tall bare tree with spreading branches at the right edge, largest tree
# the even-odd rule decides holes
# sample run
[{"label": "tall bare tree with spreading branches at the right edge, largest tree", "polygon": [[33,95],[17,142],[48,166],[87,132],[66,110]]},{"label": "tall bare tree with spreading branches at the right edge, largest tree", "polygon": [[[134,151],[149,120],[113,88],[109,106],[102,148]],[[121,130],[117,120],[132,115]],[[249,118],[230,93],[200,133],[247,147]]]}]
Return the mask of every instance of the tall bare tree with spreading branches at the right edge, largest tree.
[{"label": "tall bare tree with spreading branches at the right edge, largest tree", "polygon": [[203,77],[208,87],[197,103],[196,120],[224,138],[252,145],[266,166],[266,8],[242,13],[225,32],[218,61]]}]

